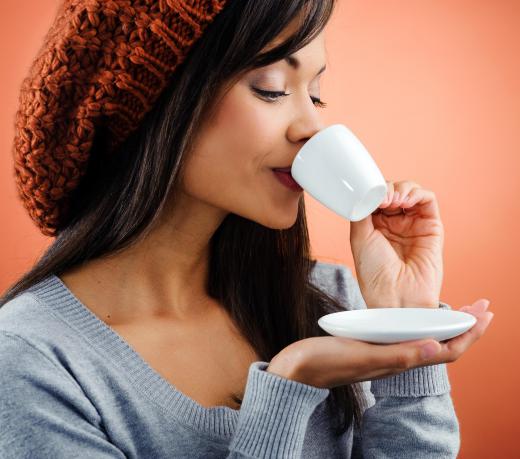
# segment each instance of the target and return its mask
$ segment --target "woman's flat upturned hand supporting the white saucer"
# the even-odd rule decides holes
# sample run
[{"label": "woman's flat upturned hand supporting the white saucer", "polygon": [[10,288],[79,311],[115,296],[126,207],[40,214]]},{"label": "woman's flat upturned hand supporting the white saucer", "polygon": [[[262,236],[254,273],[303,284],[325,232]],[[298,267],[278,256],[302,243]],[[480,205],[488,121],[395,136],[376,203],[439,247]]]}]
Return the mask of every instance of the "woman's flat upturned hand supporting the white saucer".
[{"label": "woman's flat upturned hand supporting the white saucer", "polygon": [[[421,339],[398,344],[371,344],[337,336],[296,341],[273,357],[266,371],[320,388],[333,388],[384,378],[411,368],[454,362],[486,331],[493,313],[489,301],[477,300],[459,311],[477,318],[467,332],[446,341]],[[433,345],[435,355],[423,358],[421,347]]]}]

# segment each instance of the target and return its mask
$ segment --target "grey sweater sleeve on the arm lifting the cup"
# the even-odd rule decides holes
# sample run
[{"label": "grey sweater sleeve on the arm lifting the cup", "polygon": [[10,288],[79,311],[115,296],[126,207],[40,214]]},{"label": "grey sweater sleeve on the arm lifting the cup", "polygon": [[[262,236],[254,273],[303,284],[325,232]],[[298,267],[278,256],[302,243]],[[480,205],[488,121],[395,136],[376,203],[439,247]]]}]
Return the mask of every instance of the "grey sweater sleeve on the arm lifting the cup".
[{"label": "grey sweater sleeve on the arm lifting the cup", "polygon": [[[359,286],[346,267],[349,309],[364,309]],[[451,309],[444,302],[440,308]],[[366,384],[367,382],[365,382]],[[448,459],[460,448],[459,422],[445,363],[412,368],[369,381],[374,403],[353,435],[352,459]]]}]

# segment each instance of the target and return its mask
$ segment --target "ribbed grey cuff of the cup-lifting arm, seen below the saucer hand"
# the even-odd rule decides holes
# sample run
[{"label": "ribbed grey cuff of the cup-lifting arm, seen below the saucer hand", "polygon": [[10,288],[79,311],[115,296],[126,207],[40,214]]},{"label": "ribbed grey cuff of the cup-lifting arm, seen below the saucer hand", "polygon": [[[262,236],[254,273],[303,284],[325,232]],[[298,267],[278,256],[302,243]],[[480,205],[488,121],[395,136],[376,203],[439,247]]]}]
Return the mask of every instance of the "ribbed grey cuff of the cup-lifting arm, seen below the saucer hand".
[{"label": "ribbed grey cuff of the cup-lifting arm, seen below the saucer hand", "polygon": [[[451,309],[439,302],[440,309]],[[376,397],[423,397],[450,392],[448,369],[445,363],[412,368],[397,375],[374,379],[370,390]]]}]

